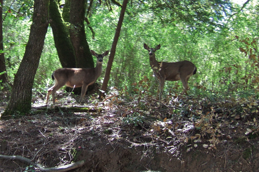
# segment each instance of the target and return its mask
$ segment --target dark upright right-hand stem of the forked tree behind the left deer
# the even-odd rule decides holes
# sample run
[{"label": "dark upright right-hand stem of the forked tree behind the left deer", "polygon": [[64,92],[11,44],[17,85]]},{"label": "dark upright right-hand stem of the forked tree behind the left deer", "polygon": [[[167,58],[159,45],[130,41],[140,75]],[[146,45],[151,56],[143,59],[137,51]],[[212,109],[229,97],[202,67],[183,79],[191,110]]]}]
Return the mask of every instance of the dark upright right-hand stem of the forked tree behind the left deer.
[{"label": "dark upright right-hand stem of the forked tree behind the left deer", "polygon": [[75,50],[76,67],[94,67],[94,60],[90,53],[85,36],[84,27],[85,0],[71,0],[70,2],[70,39]]}]

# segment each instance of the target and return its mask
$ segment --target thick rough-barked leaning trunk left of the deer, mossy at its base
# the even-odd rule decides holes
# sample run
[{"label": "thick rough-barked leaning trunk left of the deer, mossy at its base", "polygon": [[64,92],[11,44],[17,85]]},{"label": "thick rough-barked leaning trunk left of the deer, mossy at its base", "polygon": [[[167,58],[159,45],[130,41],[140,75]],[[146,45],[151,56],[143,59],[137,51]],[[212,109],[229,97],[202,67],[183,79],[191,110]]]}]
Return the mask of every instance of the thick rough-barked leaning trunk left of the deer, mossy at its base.
[{"label": "thick rough-barked leaning trunk left of the deer, mossy at its base", "polygon": [[1,119],[25,115],[31,111],[32,87],[37,71],[45,35],[48,28],[49,0],[35,0],[33,22],[25,53],[14,77],[11,100]]}]

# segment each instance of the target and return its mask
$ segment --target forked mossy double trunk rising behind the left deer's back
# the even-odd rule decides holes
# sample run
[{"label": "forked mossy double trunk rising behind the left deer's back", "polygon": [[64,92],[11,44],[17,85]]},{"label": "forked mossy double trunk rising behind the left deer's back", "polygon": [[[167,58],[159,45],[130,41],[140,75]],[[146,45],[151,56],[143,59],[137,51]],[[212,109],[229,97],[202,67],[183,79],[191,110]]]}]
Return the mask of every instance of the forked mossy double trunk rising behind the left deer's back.
[{"label": "forked mossy double trunk rising behind the left deer's back", "polygon": [[[66,0],[61,16],[57,0],[50,0],[50,26],[62,67],[94,67],[85,36],[85,3],[85,0]],[[69,29],[65,22],[70,23]]]}]

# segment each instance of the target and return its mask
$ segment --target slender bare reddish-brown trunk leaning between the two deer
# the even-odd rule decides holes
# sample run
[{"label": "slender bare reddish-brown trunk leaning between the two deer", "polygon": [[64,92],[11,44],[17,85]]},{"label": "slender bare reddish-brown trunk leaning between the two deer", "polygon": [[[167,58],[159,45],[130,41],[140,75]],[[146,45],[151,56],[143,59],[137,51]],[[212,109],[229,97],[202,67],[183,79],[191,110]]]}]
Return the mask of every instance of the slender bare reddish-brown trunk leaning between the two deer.
[{"label": "slender bare reddish-brown trunk leaning between the two deer", "polygon": [[122,22],[123,22],[123,18],[124,18],[124,13],[125,13],[125,10],[126,10],[126,7],[127,7],[127,3],[128,3],[128,0],[123,0],[123,4],[122,4],[122,7],[121,7],[121,14],[120,14],[119,21],[118,21],[118,24],[117,24],[117,28],[116,28],[115,36],[114,36],[114,39],[113,39],[112,48],[111,48],[111,53],[110,53],[110,56],[109,56],[104,80],[103,80],[103,83],[102,83],[102,88],[101,88],[102,92],[99,95],[100,99],[105,97],[104,93],[105,93],[105,91],[107,89],[107,86],[108,86],[108,81],[109,81],[110,74],[111,74],[111,67],[113,65],[113,59],[114,59],[114,55],[115,55],[115,51],[116,51],[117,42],[119,40],[119,36],[120,36],[120,32],[121,32],[121,26],[122,26]]}]

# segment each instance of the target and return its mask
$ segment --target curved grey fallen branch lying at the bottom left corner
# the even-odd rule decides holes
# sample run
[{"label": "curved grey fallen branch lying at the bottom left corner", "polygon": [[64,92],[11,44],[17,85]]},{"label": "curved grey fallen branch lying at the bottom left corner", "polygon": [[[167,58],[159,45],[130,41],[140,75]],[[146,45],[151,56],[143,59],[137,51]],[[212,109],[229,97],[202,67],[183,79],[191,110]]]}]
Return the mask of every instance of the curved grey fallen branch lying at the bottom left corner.
[{"label": "curved grey fallen branch lying at the bottom left corner", "polygon": [[39,170],[44,171],[44,172],[65,172],[65,171],[69,171],[72,169],[76,169],[78,167],[82,167],[85,164],[85,160],[82,160],[82,161],[78,161],[76,163],[72,163],[72,164],[68,164],[68,165],[47,168],[47,167],[43,167],[41,164],[36,164],[36,163],[32,162],[30,159],[24,158],[19,155],[17,155],[17,156],[0,155],[0,159],[19,160],[19,161],[28,163],[29,165],[33,165],[33,166],[39,168]]}]

